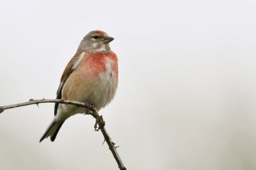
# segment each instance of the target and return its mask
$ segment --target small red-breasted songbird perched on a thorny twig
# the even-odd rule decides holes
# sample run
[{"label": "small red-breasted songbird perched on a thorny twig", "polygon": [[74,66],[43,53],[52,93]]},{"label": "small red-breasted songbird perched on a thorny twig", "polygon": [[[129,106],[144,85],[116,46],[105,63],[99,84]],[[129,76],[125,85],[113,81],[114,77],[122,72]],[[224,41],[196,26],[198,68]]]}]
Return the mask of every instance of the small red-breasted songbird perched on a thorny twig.
[{"label": "small red-breasted songbird perched on a thorny twig", "polygon": [[[112,40],[114,38],[101,30],[85,35],[65,67],[56,98],[92,102],[97,111],[112,101],[118,81],[117,55],[109,45]],[[85,108],[55,103],[54,118],[40,142],[49,136],[53,142],[65,120],[76,113],[85,113]]]}]

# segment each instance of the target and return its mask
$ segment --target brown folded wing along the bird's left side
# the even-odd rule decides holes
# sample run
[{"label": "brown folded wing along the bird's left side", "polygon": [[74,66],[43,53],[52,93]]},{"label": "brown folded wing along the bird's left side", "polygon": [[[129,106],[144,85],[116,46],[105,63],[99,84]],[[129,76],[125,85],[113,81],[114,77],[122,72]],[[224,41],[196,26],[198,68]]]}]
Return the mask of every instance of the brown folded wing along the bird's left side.
[{"label": "brown folded wing along the bird's left side", "polygon": [[[85,52],[76,52],[74,57],[70,60],[70,62],[68,62],[68,65],[65,67],[65,70],[60,78],[60,85],[58,86],[56,99],[60,99],[62,97],[61,91],[63,89],[65,81],[67,81],[70,74],[72,74],[72,72],[78,67],[78,65],[80,64],[84,56],[85,56]],[[55,103],[54,115],[57,114],[57,110],[58,110],[58,103]]]}]

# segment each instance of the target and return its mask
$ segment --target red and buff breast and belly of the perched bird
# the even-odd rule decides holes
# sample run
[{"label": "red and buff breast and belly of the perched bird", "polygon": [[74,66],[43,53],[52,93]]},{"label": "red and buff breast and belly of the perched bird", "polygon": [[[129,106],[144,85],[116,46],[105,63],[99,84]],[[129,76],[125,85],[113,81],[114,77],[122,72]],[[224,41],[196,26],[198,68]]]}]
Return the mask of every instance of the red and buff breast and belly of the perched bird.
[{"label": "red and buff breast and belly of the perched bird", "polygon": [[[82,55],[84,56],[78,68],[70,74],[63,86],[62,98],[73,101],[89,100],[87,96],[94,91],[100,99],[95,96],[89,101],[95,102],[100,109],[112,100],[117,89],[117,55],[114,52],[84,52]],[[111,89],[112,92],[106,93],[106,89]],[[101,100],[105,97],[108,99],[102,103]]]}]

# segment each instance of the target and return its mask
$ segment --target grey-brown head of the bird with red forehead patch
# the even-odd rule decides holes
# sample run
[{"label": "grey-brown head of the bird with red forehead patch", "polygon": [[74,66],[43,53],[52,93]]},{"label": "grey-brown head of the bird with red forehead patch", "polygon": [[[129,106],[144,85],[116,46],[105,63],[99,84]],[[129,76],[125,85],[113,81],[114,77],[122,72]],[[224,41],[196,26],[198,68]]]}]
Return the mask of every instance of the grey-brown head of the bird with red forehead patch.
[{"label": "grey-brown head of the bird with red forehead patch", "polygon": [[78,50],[88,50],[90,52],[111,52],[109,43],[114,38],[101,30],[92,30],[80,42]]}]

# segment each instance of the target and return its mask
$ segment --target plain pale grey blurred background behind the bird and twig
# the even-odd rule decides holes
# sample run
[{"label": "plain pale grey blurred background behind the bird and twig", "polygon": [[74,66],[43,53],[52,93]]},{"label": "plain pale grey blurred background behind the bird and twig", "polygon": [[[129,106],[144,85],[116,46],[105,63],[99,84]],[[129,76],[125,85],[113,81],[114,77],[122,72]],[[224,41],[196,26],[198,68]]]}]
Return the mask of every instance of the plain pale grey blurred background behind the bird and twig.
[{"label": "plain pale grey blurred background behind the bird and twig", "polygon": [[[115,38],[104,115],[127,169],[256,169],[255,1],[0,1],[0,105],[55,98],[90,30]],[[0,169],[117,169],[94,119],[38,142],[53,104],[0,115]]]}]

